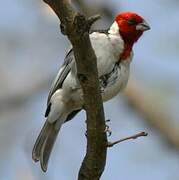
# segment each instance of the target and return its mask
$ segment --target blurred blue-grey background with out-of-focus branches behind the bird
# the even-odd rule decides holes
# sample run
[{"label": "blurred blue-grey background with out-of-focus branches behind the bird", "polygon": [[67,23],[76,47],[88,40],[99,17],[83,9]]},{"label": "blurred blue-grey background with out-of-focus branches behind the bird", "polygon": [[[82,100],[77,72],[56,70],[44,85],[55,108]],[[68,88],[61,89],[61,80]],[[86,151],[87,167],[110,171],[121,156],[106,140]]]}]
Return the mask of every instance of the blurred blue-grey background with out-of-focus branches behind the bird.
[{"label": "blurred blue-grey background with out-of-focus branches behind the bird", "polygon": [[[108,150],[102,180],[179,179],[179,2],[76,0],[87,15],[100,13],[108,28],[120,11],[141,14],[151,26],[134,47],[127,89],[105,103],[114,141],[140,131],[149,136]],[[31,159],[44,123],[51,82],[69,42],[42,2],[6,0],[0,7],[0,179],[73,180],[86,150],[85,113],[66,123],[48,172]]]}]

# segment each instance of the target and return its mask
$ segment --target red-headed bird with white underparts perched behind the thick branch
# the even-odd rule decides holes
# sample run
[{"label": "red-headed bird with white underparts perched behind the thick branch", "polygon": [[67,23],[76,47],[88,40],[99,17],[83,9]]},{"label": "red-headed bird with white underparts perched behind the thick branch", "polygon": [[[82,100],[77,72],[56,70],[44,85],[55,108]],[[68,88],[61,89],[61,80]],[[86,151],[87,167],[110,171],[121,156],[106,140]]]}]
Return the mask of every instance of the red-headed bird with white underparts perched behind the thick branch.
[{"label": "red-headed bird with white underparts perched behind the thick branch", "polygon": [[[103,102],[112,99],[126,87],[133,45],[149,29],[142,16],[134,12],[121,12],[108,29],[90,32]],[[46,121],[32,150],[32,159],[40,161],[44,172],[47,171],[49,157],[62,125],[72,120],[83,107],[83,92],[71,48],[52,83],[47,99]]]}]

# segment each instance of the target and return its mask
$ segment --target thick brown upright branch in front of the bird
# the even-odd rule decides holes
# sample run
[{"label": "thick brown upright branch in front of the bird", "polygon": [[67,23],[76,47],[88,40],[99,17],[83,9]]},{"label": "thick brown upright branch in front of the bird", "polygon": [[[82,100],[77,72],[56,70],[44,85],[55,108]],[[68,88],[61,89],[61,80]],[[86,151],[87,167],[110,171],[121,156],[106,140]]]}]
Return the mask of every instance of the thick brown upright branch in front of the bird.
[{"label": "thick brown upright branch in front of the bird", "polygon": [[107,137],[100,94],[97,62],[89,39],[89,30],[99,16],[86,19],[76,13],[68,0],[44,0],[61,21],[62,32],[73,45],[78,78],[87,113],[87,153],[79,171],[79,180],[98,180],[106,163]]}]

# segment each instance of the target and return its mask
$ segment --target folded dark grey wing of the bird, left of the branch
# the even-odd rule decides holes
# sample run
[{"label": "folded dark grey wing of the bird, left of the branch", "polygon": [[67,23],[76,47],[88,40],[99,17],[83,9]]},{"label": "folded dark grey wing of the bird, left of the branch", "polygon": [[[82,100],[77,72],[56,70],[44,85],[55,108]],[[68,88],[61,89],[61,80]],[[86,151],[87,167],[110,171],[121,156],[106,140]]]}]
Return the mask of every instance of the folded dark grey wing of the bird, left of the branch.
[{"label": "folded dark grey wing of the bird, left of the branch", "polygon": [[[72,63],[74,61],[73,49],[67,53],[64,63],[62,64],[56,78],[54,79],[47,100],[47,106],[50,104],[50,99],[57,89],[60,89],[63,85],[65,78],[71,70]],[[48,109],[48,108],[47,108]]]}]

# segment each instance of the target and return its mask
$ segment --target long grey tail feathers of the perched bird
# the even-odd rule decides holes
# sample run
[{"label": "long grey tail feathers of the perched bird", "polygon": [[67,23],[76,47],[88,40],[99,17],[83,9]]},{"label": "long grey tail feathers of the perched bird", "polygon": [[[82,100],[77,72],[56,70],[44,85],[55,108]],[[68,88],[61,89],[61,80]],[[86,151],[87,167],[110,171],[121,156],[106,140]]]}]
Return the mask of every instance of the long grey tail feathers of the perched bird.
[{"label": "long grey tail feathers of the perched bird", "polygon": [[44,172],[47,171],[49,157],[60,130],[60,128],[56,128],[56,123],[49,123],[46,120],[32,151],[32,159],[35,162],[40,161]]}]

